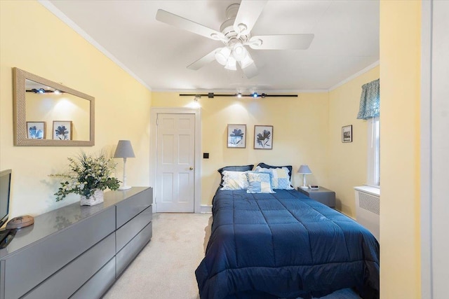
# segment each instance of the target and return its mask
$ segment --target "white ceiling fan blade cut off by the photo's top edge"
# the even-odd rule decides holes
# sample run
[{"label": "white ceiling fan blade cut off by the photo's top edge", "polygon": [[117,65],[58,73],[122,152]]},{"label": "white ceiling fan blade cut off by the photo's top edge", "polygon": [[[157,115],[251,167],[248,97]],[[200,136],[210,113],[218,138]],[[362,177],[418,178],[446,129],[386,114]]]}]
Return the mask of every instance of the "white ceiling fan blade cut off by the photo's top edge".
[{"label": "white ceiling fan blade cut off by the photo's top edge", "polygon": [[[234,29],[236,32],[240,32],[241,34],[249,33],[253,29],[255,22],[257,22],[267,2],[267,0],[242,0],[239,12],[236,15],[236,20],[234,21]],[[240,24],[246,25],[246,29],[243,32],[239,27]]]}]

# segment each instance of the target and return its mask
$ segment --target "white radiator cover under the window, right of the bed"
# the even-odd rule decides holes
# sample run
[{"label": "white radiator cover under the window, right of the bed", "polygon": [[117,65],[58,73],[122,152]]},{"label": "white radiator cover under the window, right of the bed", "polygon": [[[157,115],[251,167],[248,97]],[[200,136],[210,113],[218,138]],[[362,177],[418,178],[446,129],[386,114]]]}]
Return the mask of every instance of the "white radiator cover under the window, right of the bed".
[{"label": "white radiator cover under the window, right of the bed", "polygon": [[370,186],[354,187],[356,192],[356,221],[363,225],[379,241],[380,237],[380,189]]}]

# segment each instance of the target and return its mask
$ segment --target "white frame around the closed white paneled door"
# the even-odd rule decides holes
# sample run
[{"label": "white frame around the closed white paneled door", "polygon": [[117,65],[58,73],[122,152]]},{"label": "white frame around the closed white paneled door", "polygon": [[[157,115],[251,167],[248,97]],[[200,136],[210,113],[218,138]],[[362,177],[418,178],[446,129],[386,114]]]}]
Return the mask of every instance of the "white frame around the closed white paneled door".
[{"label": "white frame around the closed white paneled door", "polygon": [[[200,109],[193,108],[151,108],[149,118],[149,181],[156,195],[156,149],[157,149],[157,115],[166,114],[194,114],[195,115],[195,186],[194,186],[194,213],[201,212],[201,113]],[[153,213],[156,211],[157,198],[154,198]]]}]

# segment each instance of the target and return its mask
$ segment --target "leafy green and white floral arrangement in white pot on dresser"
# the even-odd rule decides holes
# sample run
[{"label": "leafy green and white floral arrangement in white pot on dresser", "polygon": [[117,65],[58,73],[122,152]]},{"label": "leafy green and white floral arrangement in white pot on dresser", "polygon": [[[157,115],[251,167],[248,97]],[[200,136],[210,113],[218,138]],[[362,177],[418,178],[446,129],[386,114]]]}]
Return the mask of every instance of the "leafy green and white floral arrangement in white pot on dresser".
[{"label": "leafy green and white floral arrangement in white pot on dresser", "polygon": [[120,181],[111,176],[115,169],[112,158],[105,153],[87,155],[81,152],[77,158],[68,158],[69,172],[65,174],[51,174],[64,179],[55,193],[56,201],[63,200],[69,193],[81,195],[81,205],[92,206],[104,200],[103,190],[109,188],[117,190]]}]

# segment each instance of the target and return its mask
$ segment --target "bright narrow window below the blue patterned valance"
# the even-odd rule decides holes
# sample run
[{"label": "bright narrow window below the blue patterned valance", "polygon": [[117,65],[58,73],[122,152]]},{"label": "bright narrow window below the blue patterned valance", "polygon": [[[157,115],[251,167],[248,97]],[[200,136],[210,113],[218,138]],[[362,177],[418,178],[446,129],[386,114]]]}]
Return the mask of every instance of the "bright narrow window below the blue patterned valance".
[{"label": "bright narrow window below the blue patterned valance", "polygon": [[368,119],[368,175],[366,183],[380,186],[380,118]]}]

